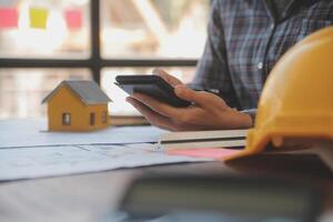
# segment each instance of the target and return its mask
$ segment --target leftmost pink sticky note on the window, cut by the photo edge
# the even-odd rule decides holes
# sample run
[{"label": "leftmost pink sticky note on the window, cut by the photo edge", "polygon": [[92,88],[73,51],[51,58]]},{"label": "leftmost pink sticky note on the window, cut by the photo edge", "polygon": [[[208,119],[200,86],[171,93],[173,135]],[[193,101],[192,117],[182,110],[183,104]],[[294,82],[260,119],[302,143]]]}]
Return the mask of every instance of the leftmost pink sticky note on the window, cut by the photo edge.
[{"label": "leftmost pink sticky note on the window, cut by the photo edge", "polygon": [[18,28],[19,13],[16,8],[0,8],[0,29]]}]

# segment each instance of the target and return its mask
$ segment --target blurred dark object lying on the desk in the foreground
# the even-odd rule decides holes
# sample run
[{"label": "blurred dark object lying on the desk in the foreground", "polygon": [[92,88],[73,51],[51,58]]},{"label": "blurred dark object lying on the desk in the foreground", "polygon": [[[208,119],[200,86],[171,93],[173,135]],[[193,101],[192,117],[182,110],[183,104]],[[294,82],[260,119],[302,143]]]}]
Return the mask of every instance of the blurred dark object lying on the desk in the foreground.
[{"label": "blurred dark object lying on the desk in the foreground", "polygon": [[321,208],[322,193],[310,185],[273,178],[216,175],[143,176],[130,185],[120,205],[122,212],[140,220],[201,215],[206,219],[203,221],[238,222],[314,222]]}]

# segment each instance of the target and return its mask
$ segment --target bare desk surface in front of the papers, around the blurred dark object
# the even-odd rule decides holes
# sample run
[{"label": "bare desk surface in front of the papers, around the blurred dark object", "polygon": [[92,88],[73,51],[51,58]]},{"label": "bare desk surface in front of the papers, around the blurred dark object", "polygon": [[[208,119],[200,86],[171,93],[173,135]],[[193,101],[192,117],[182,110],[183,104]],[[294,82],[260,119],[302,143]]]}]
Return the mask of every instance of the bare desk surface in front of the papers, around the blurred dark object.
[{"label": "bare desk surface in front of the papers, around the blurred dark object", "polygon": [[[97,221],[117,208],[134,176],[170,172],[274,174],[316,181],[333,190],[333,173],[314,157],[259,155],[229,164],[172,164],[0,183],[0,221]],[[333,212],[332,200],[327,195],[326,212]]]}]

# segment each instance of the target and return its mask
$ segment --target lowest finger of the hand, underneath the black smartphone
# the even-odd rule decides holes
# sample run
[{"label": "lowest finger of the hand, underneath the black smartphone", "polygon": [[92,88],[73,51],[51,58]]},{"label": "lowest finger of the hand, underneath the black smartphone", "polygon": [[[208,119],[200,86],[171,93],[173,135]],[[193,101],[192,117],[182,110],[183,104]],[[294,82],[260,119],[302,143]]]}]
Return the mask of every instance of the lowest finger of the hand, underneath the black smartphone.
[{"label": "lowest finger of the hand, underneath the black smartphone", "polygon": [[127,101],[131,103],[145,119],[153,125],[167,129],[174,130],[173,125],[169,118],[160,115],[159,113],[151,110],[149,107],[142,104],[140,101],[133,98],[127,98]]}]

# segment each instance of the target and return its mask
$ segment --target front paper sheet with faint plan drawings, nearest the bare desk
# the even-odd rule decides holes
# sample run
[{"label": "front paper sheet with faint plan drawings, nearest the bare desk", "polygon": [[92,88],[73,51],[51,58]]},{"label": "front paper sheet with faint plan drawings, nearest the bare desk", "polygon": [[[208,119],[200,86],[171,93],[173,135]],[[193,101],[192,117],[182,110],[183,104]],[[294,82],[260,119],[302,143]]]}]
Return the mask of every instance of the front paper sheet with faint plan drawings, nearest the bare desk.
[{"label": "front paper sheet with faint plan drawings, nearest the bare desk", "polygon": [[212,161],[168,155],[150,143],[0,149],[0,181],[98,172],[120,168]]}]

